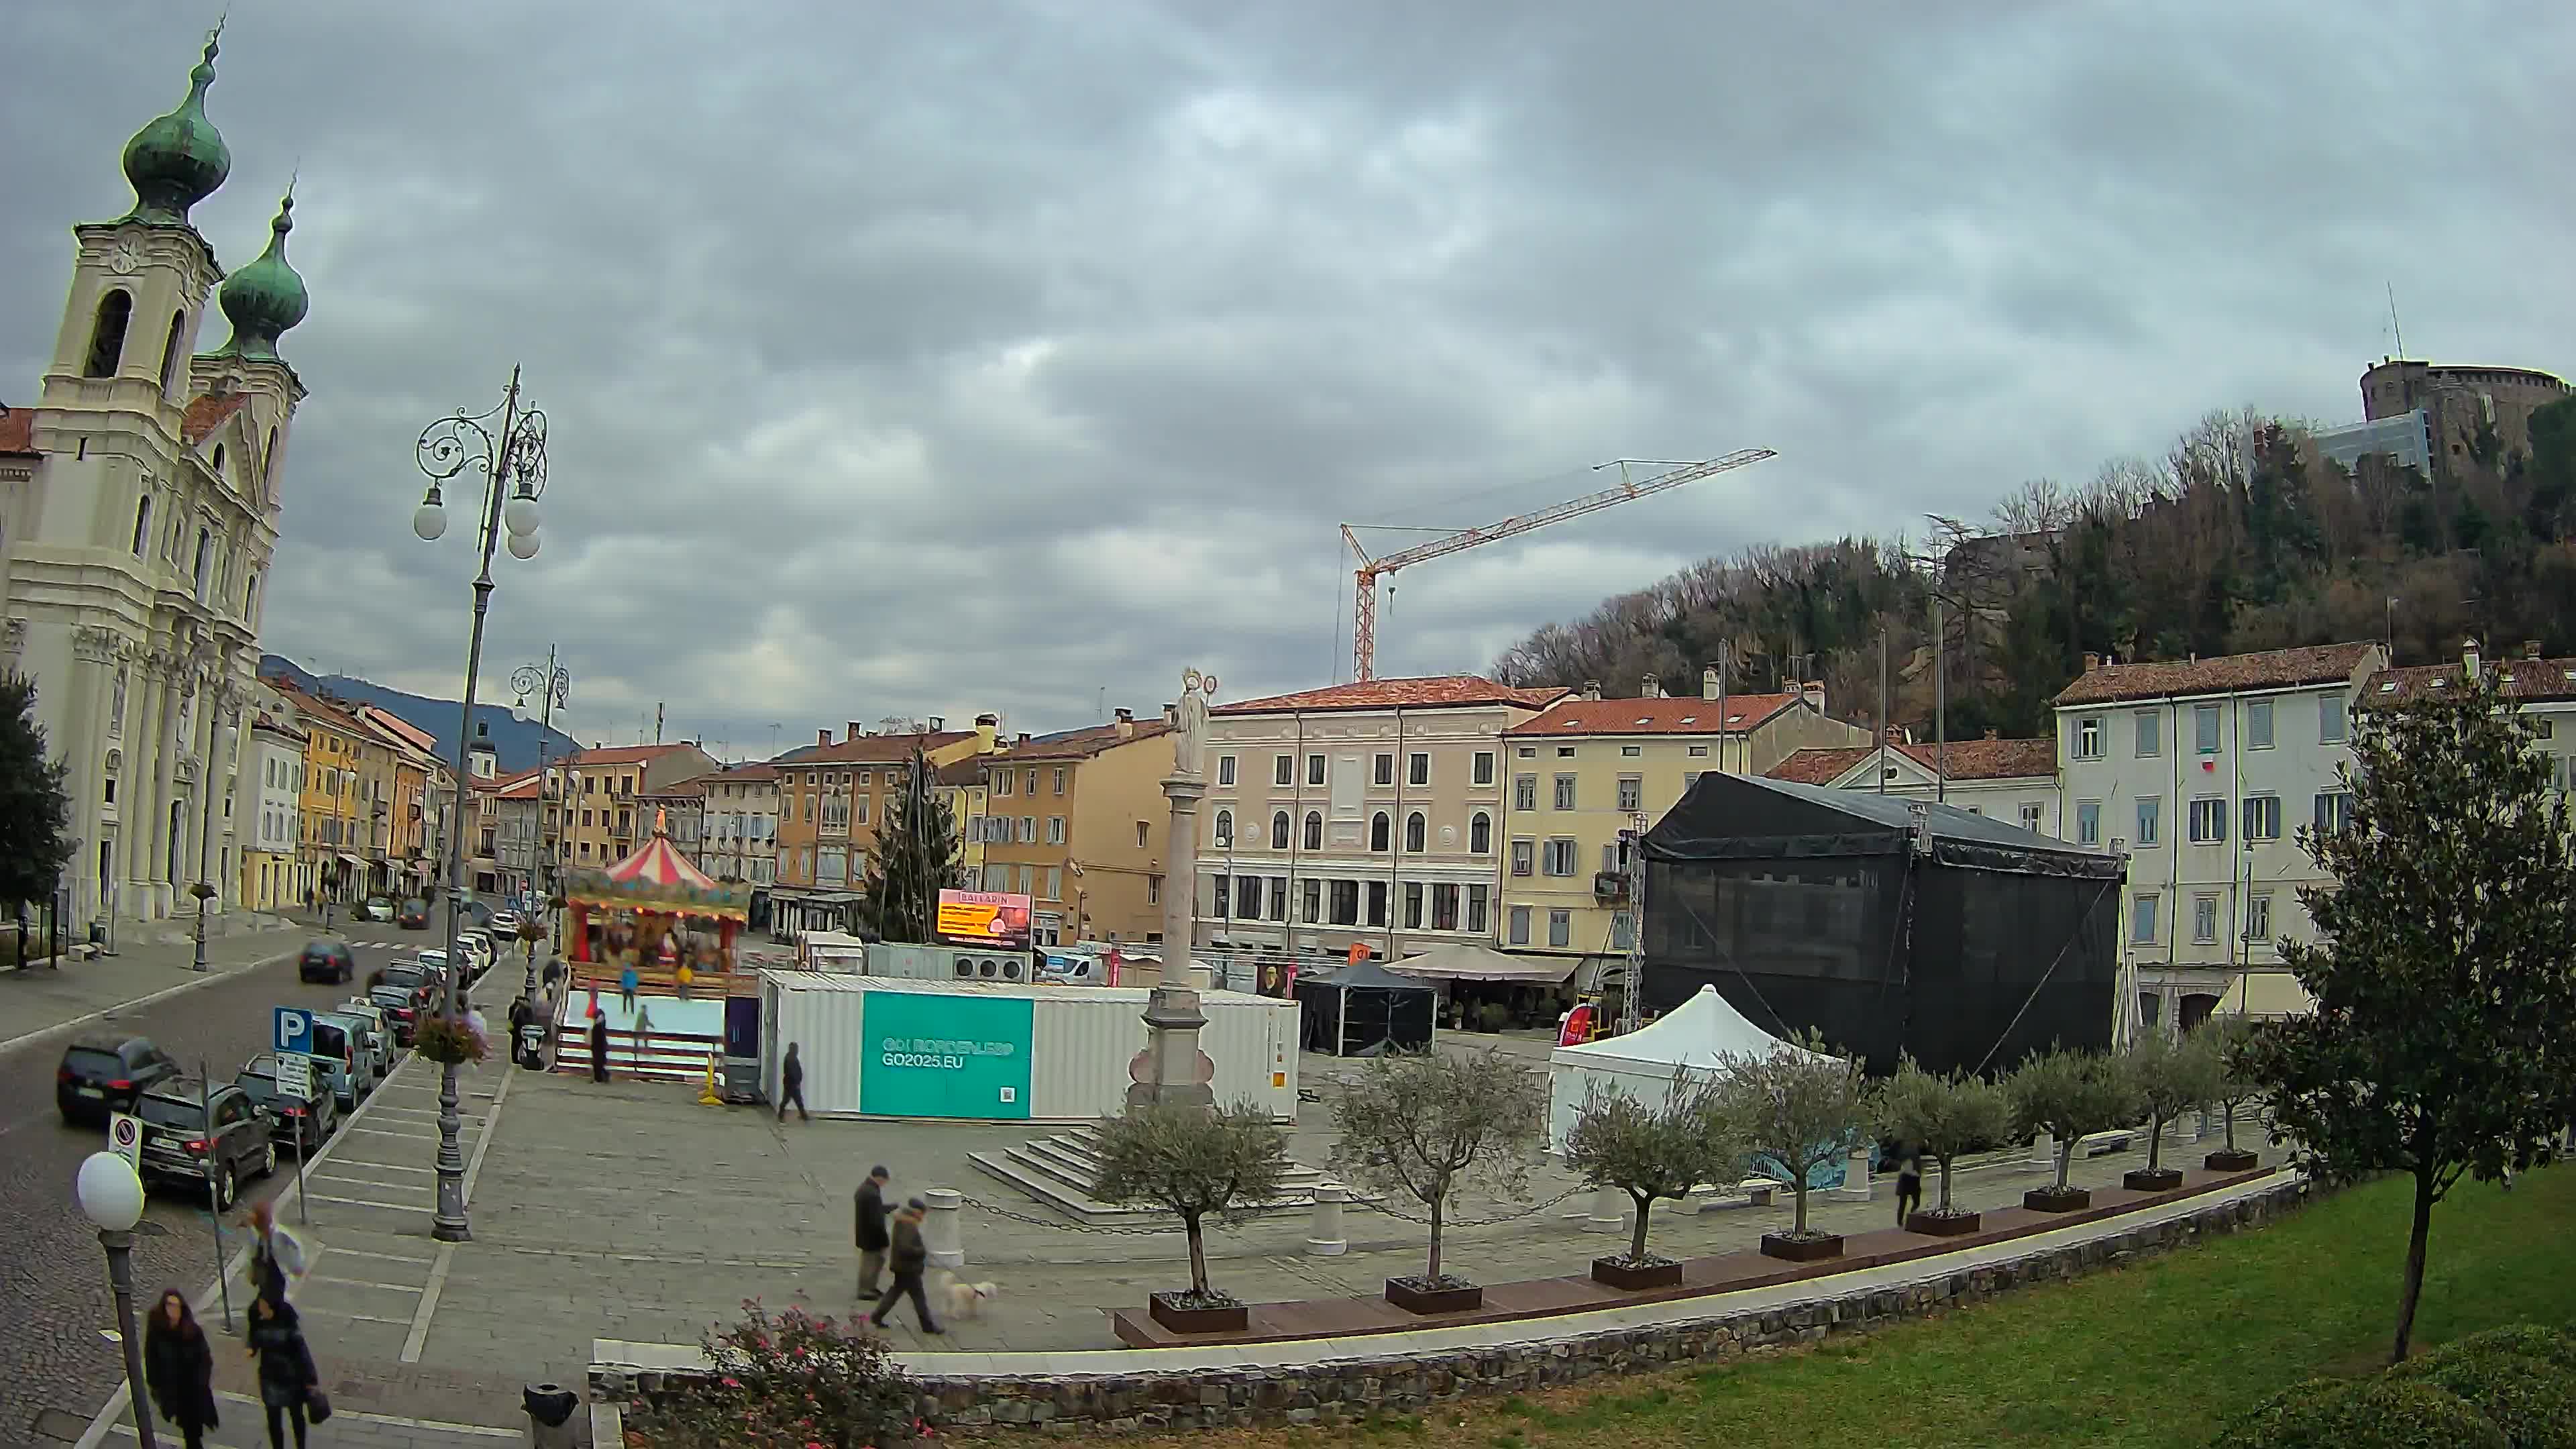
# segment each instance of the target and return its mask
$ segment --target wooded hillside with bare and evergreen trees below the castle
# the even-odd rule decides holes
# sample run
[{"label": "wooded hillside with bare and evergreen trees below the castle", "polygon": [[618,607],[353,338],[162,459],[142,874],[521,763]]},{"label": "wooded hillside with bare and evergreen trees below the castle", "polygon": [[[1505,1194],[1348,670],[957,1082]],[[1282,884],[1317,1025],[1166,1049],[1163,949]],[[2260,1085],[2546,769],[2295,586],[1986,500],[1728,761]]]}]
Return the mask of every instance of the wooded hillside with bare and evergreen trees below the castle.
[{"label": "wooded hillside with bare and evergreen trees below the castle", "polygon": [[1886,629],[1891,717],[1929,737],[1940,596],[1950,737],[1968,737],[2045,735],[2087,652],[2391,634],[2398,663],[2455,655],[2463,634],[2558,650],[2576,642],[2576,397],[2532,413],[2530,436],[2522,451],[2483,433],[2434,477],[2383,459],[2347,474],[2298,423],[2210,413],[2161,459],[2027,482],[1984,521],[1703,559],[1533,632],[1494,678],[1636,694],[1654,673],[1680,691],[1723,652],[1734,688],[1821,678],[1834,714],[1873,719]]}]

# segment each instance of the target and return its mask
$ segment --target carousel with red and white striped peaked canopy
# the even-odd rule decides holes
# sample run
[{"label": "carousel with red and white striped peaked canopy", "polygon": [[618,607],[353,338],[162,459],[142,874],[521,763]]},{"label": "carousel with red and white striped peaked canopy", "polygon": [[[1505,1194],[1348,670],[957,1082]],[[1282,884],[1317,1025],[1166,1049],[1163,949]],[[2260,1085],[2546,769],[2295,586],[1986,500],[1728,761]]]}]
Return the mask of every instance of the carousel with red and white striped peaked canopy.
[{"label": "carousel with red and white striped peaked canopy", "polygon": [[[670,843],[670,822],[657,810],[652,841],[600,871],[574,871],[564,884],[572,913],[567,944],[574,964],[636,967],[724,982],[734,972],[734,936],[752,913],[747,887],[726,887],[688,864]],[[685,975],[683,975],[685,972]]]}]

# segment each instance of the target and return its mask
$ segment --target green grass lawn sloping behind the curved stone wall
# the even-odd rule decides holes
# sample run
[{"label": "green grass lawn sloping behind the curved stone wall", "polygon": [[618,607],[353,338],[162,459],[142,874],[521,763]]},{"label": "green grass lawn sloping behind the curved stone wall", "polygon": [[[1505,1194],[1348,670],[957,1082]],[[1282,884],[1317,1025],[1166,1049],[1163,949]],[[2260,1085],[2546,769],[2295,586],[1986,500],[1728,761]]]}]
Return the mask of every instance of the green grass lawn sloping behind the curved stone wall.
[{"label": "green grass lawn sloping behind the curved stone wall", "polygon": [[[2208,1444],[2218,1418],[2388,1356],[2411,1181],[2334,1194],[2259,1232],[1984,1307],[1832,1341],[1507,1400],[1427,1421],[1226,1434],[1231,1444],[1762,1449]],[[2434,1209],[2416,1348],[2499,1323],[2576,1328],[2576,1168]],[[1190,1436],[1206,1441],[1206,1436]]]}]

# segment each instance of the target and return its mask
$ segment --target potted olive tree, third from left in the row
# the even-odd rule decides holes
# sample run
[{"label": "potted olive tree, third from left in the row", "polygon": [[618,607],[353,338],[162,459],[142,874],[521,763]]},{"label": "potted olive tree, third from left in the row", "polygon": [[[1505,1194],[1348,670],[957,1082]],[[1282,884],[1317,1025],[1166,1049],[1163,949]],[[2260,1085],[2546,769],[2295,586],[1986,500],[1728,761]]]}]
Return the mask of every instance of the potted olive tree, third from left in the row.
[{"label": "potted olive tree, third from left in the row", "polygon": [[1592,1281],[1631,1292],[1677,1287],[1680,1258],[1646,1253],[1646,1214],[1656,1199],[1680,1201],[1741,1163],[1744,1132],[1716,1075],[1677,1067],[1659,1106],[1592,1083],[1566,1132],[1566,1165],[1584,1186],[1620,1189],[1636,1201],[1628,1256],[1592,1258]]}]

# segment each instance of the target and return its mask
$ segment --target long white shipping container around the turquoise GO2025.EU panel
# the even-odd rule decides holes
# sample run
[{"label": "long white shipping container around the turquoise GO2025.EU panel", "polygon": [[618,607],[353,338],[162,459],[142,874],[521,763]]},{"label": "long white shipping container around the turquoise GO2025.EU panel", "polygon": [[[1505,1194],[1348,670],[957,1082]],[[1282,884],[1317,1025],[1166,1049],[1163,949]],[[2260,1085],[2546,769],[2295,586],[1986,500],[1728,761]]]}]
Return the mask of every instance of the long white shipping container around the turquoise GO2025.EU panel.
[{"label": "long white shipping container around the turquoise GO2025.EU panel", "polygon": [[[868,1060],[868,995],[1028,1000],[1025,1101],[956,1101],[948,1109],[886,1111],[863,1101]],[[817,972],[760,975],[760,1080],[778,1093],[778,1062],[796,1042],[804,1062],[806,1106],[824,1116],[956,1116],[966,1122],[1090,1122],[1126,1104],[1128,1067],[1146,1044],[1144,1008],[1151,993],[1133,987],[1054,987],[987,982],[914,982]],[[1198,1047],[1216,1067],[1216,1101],[1252,1101],[1278,1119],[1296,1116],[1298,1006],[1244,993],[1200,993],[1208,1024]],[[935,1011],[935,1008],[933,1008]],[[881,1078],[884,1080],[884,1078]],[[891,1091],[881,1088],[881,1096]]]}]

